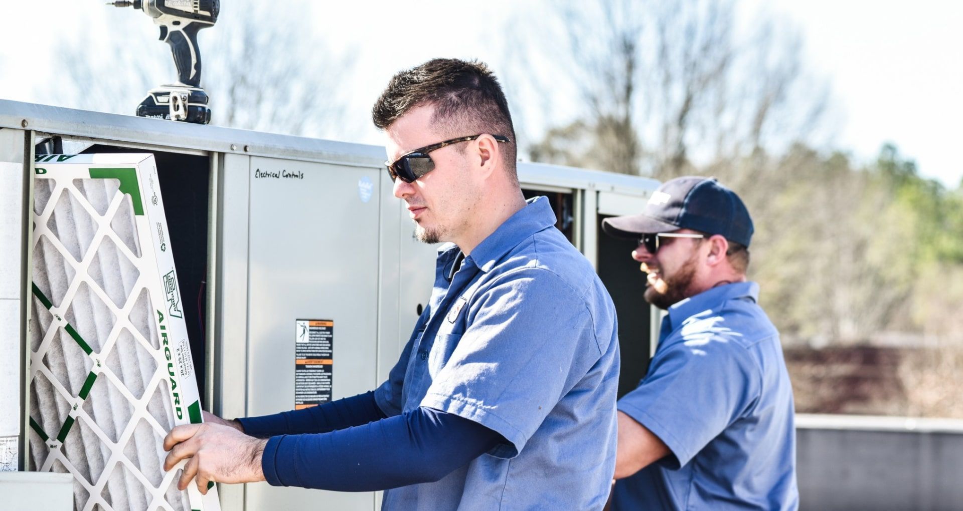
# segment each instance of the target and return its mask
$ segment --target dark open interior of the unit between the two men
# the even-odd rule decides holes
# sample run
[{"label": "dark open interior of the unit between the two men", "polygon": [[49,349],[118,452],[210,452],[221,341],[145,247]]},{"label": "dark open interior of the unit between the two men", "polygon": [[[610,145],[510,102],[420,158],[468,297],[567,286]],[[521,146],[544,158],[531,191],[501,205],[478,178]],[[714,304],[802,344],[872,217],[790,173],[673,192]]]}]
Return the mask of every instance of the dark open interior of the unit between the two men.
[{"label": "dark open interior of the unit between the two men", "polygon": [[638,381],[649,368],[651,316],[649,304],[642,298],[645,273],[638,269],[638,262],[631,255],[636,242],[607,236],[602,232],[604,218],[607,217],[598,217],[598,272],[612,295],[618,315],[618,342],[622,355],[618,396],[621,397],[638,386]]}]

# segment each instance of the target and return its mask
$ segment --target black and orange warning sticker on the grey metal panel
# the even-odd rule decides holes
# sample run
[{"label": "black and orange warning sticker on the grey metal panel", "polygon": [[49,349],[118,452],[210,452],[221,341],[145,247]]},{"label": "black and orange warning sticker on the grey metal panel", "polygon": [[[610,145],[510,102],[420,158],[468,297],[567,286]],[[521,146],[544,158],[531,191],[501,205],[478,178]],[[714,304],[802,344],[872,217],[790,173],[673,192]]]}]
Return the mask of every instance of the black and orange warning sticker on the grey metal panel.
[{"label": "black and orange warning sticker on the grey metal panel", "polygon": [[295,409],[331,400],[334,321],[295,320]]}]

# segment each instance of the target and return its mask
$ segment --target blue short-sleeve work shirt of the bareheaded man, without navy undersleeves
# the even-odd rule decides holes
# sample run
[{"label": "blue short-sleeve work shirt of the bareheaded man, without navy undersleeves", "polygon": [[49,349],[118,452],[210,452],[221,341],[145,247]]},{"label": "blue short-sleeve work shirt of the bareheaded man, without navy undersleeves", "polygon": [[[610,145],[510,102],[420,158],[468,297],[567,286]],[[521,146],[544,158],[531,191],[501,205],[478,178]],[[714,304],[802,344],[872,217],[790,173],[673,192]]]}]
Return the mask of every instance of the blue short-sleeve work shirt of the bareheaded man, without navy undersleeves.
[{"label": "blue short-sleeve work shirt of the bareheaded man, without navy undersleeves", "polygon": [[[439,249],[429,305],[378,406],[456,414],[506,443],[384,509],[601,509],[615,467],[615,310],[536,197],[464,257]],[[426,446],[425,448],[431,448]]]}]

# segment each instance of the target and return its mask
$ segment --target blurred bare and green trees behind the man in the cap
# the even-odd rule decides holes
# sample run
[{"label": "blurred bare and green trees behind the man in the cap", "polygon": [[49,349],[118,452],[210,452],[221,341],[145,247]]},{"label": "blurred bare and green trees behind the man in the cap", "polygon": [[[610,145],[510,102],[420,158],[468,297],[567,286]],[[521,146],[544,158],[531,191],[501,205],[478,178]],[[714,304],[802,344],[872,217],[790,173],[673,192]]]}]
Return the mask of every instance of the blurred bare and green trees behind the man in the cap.
[{"label": "blurred bare and green trees behind the man in the cap", "polygon": [[960,190],[892,144],[870,165],[822,147],[828,86],[793,26],[765,13],[741,26],[734,0],[542,7],[552,15],[526,23],[552,37],[523,36],[534,52],[519,64],[546,72],[509,85],[574,90],[585,108],[536,137],[532,160],[714,175],[739,192],[757,227],[750,277],[787,343],[950,340],[963,327]]}]

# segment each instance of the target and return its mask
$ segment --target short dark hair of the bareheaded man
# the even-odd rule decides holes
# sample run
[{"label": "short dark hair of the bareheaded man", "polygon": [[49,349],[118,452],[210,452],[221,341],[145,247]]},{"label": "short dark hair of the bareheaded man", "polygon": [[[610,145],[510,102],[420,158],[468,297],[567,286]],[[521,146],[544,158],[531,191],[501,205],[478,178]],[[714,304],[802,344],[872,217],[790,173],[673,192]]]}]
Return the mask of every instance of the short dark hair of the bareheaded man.
[{"label": "short dark hair of the bareheaded man", "polygon": [[372,120],[384,130],[402,115],[423,105],[434,106],[432,122],[453,138],[487,133],[503,135],[505,164],[515,173],[515,128],[508,100],[495,74],[479,61],[433,59],[399,71],[371,109]]}]

